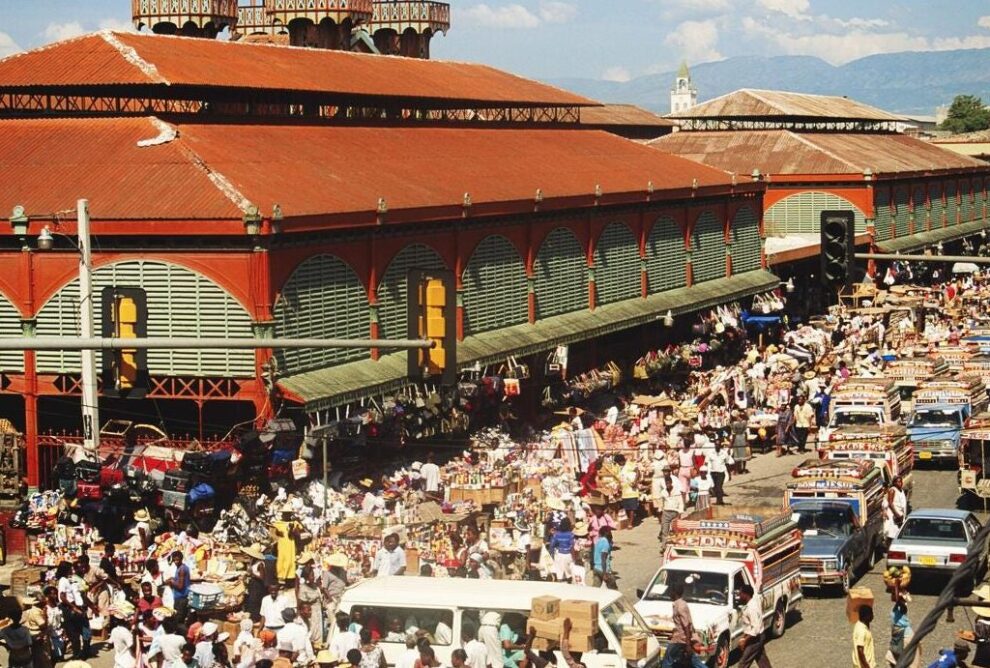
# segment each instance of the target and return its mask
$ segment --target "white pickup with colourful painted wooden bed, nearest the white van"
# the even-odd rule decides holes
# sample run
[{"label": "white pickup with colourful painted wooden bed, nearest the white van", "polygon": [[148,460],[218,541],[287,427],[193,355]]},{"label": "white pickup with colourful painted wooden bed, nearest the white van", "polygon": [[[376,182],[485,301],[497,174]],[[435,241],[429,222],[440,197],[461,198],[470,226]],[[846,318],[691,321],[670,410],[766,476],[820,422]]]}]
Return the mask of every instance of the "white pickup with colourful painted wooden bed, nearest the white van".
[{"label": "white pickup with colourful painted wooden bed, nearest the white van", "polygon": [[725,668],[742,635],[742,585],[756,591],[771,638],[784,635],[788,613],[800,607],[801,533],[780,507],[714,506],[702,513],[674,520],[662,565],[634,607],[666,646],[673,631],[671,587],[683,583],[694,627],[708,648],[701,658]]}]

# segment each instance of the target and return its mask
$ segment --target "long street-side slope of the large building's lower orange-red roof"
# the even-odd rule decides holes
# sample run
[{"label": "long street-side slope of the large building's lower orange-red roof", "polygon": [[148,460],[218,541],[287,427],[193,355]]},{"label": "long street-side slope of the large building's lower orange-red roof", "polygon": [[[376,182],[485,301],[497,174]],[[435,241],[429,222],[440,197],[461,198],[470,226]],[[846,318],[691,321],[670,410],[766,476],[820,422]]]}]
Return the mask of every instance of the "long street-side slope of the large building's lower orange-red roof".
[{"label": "long street-side slope of the large building's lower orange-red roof", "polygon": [[286,216],[728,185],[722,171],[594,130],[183,125],[182,142]]}]

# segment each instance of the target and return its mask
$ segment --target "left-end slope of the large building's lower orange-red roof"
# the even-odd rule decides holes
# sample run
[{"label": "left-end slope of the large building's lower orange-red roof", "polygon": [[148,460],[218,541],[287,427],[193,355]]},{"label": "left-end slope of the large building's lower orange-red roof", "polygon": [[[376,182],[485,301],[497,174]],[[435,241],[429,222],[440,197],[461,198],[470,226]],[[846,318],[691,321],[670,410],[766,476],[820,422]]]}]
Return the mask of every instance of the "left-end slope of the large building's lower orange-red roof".
[{"label": "left-end slope of the large building's lower orange-red roof", "polygon": [[0,120],[0,216],[92,202],[103,220],[238,219],[243,214],[178,143],[138,148],[159,134],[147,118]]}]

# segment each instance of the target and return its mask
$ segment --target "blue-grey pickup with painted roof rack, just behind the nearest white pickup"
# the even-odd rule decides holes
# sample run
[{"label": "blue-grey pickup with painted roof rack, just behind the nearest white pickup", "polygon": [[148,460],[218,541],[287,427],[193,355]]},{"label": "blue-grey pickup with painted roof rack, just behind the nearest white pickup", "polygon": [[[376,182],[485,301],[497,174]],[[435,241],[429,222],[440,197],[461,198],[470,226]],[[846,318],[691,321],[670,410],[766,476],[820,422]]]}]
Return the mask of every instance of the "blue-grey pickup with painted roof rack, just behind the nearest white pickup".
[{"label": "blue-grey pickup with painted roof rack, just behind the nearest white pickup", "polygon": [[883,545],[881,468],[869,460],[809,459],[794,469],[784,499],[803,535],[802,587],[844,594],[856,573],[873,567]]}]

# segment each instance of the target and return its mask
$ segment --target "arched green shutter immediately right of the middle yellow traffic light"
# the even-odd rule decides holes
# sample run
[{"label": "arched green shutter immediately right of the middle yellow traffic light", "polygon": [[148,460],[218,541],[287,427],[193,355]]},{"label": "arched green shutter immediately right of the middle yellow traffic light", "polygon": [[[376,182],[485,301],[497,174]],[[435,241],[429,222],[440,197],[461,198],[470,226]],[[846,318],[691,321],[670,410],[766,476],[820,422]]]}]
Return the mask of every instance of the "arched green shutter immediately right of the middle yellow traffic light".
[{"label": "arched green shutter immediately right of the middle yellow traffic light", "polygon": [[478,244],[462,282],[465,336],[529,320],[526,265],[505,237],[492,235]]}]

